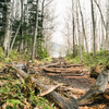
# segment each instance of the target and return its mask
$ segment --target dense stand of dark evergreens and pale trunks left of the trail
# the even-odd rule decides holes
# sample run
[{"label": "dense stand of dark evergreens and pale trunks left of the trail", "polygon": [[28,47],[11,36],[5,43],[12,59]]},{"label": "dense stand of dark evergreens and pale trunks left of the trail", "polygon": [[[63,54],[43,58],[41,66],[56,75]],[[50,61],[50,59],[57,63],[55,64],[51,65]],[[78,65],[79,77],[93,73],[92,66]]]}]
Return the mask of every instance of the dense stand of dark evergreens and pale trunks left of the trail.
[{"label": "dense stand of dark evergreens and pale trunks left of the trail", "polygon": [[[45,41],[45,8],[52,1],[0,1],[0,36],[2,36],[0,41],[3,39],[5,57],[11,53],[12,49],[31,55],[33,60],[36,57],[40,59],[47,57],[47,50],[43,46]],[[14,9],[15,5],[17,7]],[[49,15],[49,17],[51,16]]]}]

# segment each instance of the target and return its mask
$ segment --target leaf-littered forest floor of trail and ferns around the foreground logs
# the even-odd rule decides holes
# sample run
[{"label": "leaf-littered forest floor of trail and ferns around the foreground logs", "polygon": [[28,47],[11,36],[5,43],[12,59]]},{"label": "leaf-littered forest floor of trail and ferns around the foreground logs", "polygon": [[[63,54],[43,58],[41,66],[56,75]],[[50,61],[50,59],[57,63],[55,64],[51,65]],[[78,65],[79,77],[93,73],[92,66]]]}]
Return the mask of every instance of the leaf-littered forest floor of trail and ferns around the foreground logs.
[{"label": "leaf-littered forest floor of trail and ferns around the foreground logs", "polygon": [[[69,62],[65,62],[63,59],[53,59],[51,62],[46,63],[32,63],[32,62],[20,62],[24,63],[26,66],[26,70],[24,71],[26,73],[29,73],[31,76],[37,78],[39,82],[41,82],[45,85],[48,86],[55,86],[60,83],[62,83],[62,86],[55,89],[60,95],[64,97],[73,97],[75,99],[82,97],[86,94],[86,92],[90,88],[90,86],[96,82],[95,77],[90,77],[90,69],[82,65],[82,64],[72,64]],[[98,70],[96,68],[96,70]],[[100,73],[100,70],[98,70]],[[3,66],[3,69],[0,71],[0,109],[4,109],[7,106],[10,106],[11,108],[14,108],[14,105],[21,99],[20,95],[24,95],[23,101],[20,102],[21,107],[16,105],[15,109],[55,109],[55,105],[49,99],[49,102],[46,101],[45,98],[41,98],[43,101],[40,101],[40,98],[37,99],[36,102],[29,101],[29,97],[27,96],[31,90],[24,89],[24,83],[21,81],[21,76],[17,75],[17,73],[11,69],[8,71],[7,64]],[[17,83],[16,80],[20,82]],[[23,84],[23,86],[20,86],[21,93],[19,96],[12,97],[13,94],[16,94],[19,90],[14,90],[10,87],[10,85],[13,85],[13,83],[16,82],[17,84]],[[5,85],[7,83],[7,85]],[[26,83],[26,81],[25,81]],[[15,84],[15,83],[14,83]],[[26,83],[27,86],[28,83]],[[25,86],[25,87],[26,87]],[[108,85],[107,85],[108,86]],[[108,88],[108,87],[107,87]],[[13,92],[13,94],[12,94]],[[26,94],[24,93],[26,92]],[[7,97],[5,97],[7,96]],[[15,100],[15,99],[19,100]],[[8,100],[9,99],[9,100]],[[11,99],[11,100],[10,100]],[[14,101],[12,100],[14,99]],[[26,99],[24,101],[24,99]],[[34,100],[34,97],[32,98]],[[15,102],[16,101],[16,102]],[[11,102],[9,105],[9,102]],[[36,106],[35,106],[36,104]],[[43,104],[43,105],[40,105]],[[25,106],[22,106],[25,105]],[[102,101],[100,104],[93,104],[90,106],[84,105],[78,106],[80,109],[108,109],[108,105]],[[59,109],[59,107],[56,107]],[[9,108],[8,108],[9,109]]]}]

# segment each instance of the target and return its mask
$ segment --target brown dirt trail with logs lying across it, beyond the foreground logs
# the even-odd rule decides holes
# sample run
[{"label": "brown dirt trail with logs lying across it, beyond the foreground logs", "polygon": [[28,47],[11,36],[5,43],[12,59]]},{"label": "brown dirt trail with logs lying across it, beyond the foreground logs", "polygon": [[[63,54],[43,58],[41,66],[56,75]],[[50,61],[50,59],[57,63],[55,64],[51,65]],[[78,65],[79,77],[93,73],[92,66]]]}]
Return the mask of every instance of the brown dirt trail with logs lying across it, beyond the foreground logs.
[{"label": "brown dirt trail with logs lying across it, beyond the foreground logs", "polygon": [[62,59],[55,60],[57,60],[56,63],[59,62],[58,65],[44,68],[44,74],[48,77],[84,90],[88,90],[95,83],[95,78],[90,77],[90,70],[86,66],[66,63]]}]

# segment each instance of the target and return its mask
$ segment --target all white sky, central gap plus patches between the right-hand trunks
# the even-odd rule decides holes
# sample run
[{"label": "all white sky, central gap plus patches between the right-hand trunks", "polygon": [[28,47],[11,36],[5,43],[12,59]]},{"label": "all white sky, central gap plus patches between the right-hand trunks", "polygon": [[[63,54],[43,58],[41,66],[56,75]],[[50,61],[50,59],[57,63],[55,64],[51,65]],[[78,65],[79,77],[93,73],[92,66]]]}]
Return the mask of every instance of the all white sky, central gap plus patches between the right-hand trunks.
[{"label": "all white sky, central gap plus patches between the right-hand trunks", "polygon": [[[106,3],[105,1],[104,0],[100,1],[101,2],[100,7],[102,10],[105,10],[105,7],[104,7]],[[59,22],[59,26],[58,26],[56,33],[53,34],[52,40],[58,44],[64,44],[64,39],[62,37],[61,32],[64,32],[64,29],[63,29],[63,26],[65,23],[64,17],[66,17],[68,14],[70,14],[70,10],[72,9],[72,0],[55,0],[55,2],[57,3],[56,14],[59,15],[57,19],[57,22]],[[87,24],[89,25],[90,20],[92,20],[90,0],[80,0],[80,2],[81,2],[81,7],[82,7],[82,12],[86,15],[86,16],[84,16],[84,20],[86,20]],[[99,14],[99,12],[98,12],[98,14]],[[72,23],[71,23],[71,25],[72,25]],[[90,33],[90,29],[88,29],[88,31],[89,32],[87,32],[87,33]]]}]

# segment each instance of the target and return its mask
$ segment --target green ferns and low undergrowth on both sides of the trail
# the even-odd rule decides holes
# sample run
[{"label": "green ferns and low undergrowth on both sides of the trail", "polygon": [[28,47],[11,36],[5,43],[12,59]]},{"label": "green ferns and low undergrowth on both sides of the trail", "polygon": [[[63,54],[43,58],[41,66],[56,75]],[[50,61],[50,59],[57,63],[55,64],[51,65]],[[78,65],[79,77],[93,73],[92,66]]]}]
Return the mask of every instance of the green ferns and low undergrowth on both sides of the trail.
[{"label": "green ferns and low undergrowth on both sides of the trail", "polygon": [[[35,84],[31,81],[28,76],[26,80],[17,78],[17,75],[13,69],[9,72],[2,70],[8,62],[22,62],[26,63],[31,58],[23,53],[17,53],[13,50],[9,58],[3,59],[4,52],[0,48],[0,107],[1,109],[58,109],[55,107],[53,102],[50,102],[45,97],[39,97],[39,92],[35,92]],[[83,60],[76,56],[74,59],[72,55],[65,57],[65,60],[72,63],[84,64],[87,68],[106,65],[108,60],[109,51],[97,51],[97,56],[94,58],[93,52],[89,52],[89,58],[86,57],[86,52],[83,53]],[[51,57],[44,60],[35,60],[33,64],[44,64],[45,62],[50,62]],[[107,63],[109,64],[109,62]],[[33,75],[34,76],[34,75]],[[39,77],[35,75],[41,82],[51,84],[50,80],[46,77]]]}]

